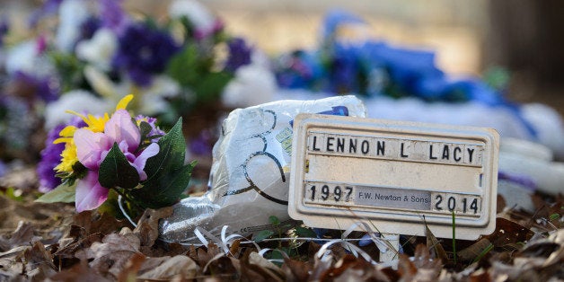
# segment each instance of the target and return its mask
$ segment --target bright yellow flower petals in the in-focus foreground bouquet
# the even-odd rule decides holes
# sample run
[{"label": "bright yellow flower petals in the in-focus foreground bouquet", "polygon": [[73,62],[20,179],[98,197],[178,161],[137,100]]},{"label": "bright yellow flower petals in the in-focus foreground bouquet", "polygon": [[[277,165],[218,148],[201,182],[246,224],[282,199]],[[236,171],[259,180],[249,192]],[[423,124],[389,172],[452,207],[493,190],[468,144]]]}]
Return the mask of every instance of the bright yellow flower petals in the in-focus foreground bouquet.
[{"label": "bright yellow flower petals in the in-focus foreground bouquet", "polygon": [[[129,101],[131,101],[132,99],[133,95],[131,94],[123,97],[118,102],[116,110],[125,110],[126,107],[128,107]],[[104,132],[106,122],[110,119],[110,115],[108,115],[108,113],[104,113],[101,117],[96,117],[91,114],[84,116],[73,110],[66,110],[66,112],[81,117],[86,123],[86,127],[84,128],[90,129],[93,132]],[[54,144],[65,143],[65,150],[63,150],[63,153],[61,153],[61,163],[59,163],[55,167],[55,170],[57,172],[72,173],[73,165],[78,162],[78,157],[76,156],[76,145],[73,141],[76,129],[78,128],[76,128],[75,126],[67,126],[66,128],[63,128],[63,130],[58,133],[59,137],[55,139],[55,141],[53,141]]]}]

